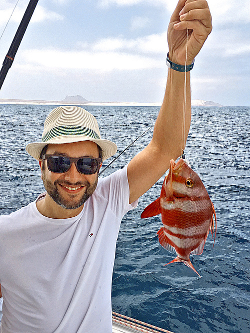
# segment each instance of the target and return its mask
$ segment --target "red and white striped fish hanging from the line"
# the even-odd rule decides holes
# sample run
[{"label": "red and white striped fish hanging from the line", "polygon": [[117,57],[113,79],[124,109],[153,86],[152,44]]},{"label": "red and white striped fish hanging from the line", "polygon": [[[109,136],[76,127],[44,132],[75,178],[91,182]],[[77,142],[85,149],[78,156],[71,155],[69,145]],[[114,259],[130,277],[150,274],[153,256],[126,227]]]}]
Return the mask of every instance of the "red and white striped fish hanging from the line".
[{"label": "red and white striped fish hanging from the line", "polygon": [[157,232],[159,242],[166,250],[177,254],[167,265],[181,261],[197,273],[189,255],[203,252],[209,231],[213,235],[213,215],[215,240],[216,215],[202,181],[182,158],[176,164],[170,161],[159,198],[148,205],[140,217],[157,214],[161,214],[163,223]]}]

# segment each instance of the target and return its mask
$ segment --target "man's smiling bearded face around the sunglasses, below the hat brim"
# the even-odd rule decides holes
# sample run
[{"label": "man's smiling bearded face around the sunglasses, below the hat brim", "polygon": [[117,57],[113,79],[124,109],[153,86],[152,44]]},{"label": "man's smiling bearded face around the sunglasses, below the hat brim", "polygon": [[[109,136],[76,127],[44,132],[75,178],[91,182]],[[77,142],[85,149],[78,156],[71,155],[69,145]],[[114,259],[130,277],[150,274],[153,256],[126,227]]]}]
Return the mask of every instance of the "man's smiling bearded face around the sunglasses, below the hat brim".
[{"label": "man's smiling bearded face around the sunglasses, below the hat brim", "polygon": [[[65,144],[49,144],[46,154],[65,155],[69,157],[98,157],[97,145],[92,141],[81,141]],[[41,179],[49,196],[61,207],[76,209],[94,192],[97,185],[97,173],[83,175],[74,165],[64,173],[53,173],[47,169],[47,161],[44,161]],[[42,163],[40,161],[40,165]]]}]

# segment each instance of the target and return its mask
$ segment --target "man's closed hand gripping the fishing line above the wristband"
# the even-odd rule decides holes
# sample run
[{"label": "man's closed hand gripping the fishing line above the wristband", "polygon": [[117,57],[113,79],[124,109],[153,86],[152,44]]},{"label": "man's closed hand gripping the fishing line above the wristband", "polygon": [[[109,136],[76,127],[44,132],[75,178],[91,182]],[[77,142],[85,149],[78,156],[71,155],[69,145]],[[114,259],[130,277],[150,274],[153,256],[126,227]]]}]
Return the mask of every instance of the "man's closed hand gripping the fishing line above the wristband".
[{"label": "man's closed hand gripping the fishing line above the wristband", "polygon": [[211,15],[205,0],[179,0],[167,31],[169,59],[185,65],[186,29],[188,29],[187,65],[198,54],[212,30]]}]

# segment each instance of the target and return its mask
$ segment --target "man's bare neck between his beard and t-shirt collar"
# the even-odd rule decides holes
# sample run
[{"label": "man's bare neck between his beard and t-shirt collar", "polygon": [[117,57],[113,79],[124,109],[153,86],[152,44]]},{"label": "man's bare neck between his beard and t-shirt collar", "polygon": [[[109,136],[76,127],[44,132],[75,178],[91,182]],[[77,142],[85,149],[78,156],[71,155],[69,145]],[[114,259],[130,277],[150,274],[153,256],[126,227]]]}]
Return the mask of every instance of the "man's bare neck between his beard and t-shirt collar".
[{"label": "man's bare neck between his beard and t-shirt collar", "polygon": [[65,209],[58,205],[53,199],[46,193],[45,198],[36,201],[36,208],[43,216],[55,219],[70,218],[78,215],[83,205],[76,209]]}]

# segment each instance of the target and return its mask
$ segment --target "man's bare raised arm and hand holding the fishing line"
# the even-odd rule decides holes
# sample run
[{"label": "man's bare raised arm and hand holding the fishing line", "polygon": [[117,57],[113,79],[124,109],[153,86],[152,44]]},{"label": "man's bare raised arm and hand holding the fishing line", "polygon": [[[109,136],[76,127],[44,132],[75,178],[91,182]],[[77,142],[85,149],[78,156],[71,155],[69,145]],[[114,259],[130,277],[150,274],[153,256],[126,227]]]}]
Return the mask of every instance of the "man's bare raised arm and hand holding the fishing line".
[{"label": "man's bare raised arm and hand holding the fishing line", "polygon": [[[204,0],[179,0],[167,31],[169,60],[185,65],[186,29],[188,29],[187,62],[190,65],[210,34],[211,15]],[[190,72],[186,72],[185,130],[182,138],[185,73],[168,70],[166,90],[156,119],[150,143],[128,164],[129,202],[145,193],[169,168],[170,159],[178,158],[184,149],[191,120]]]}]

